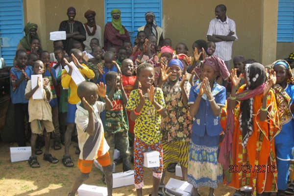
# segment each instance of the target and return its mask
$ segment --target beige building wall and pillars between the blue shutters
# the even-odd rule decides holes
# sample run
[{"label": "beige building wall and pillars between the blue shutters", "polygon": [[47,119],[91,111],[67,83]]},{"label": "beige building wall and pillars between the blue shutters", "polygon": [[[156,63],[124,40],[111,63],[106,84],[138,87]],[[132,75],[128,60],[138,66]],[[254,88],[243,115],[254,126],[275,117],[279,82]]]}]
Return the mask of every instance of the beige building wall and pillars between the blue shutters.
[{"label": "beige building wall and pillars between the blue shutters", "polygon": [[[172,39],[172,45],[186,43],[192,54],[192,43],[205,39],[210,20],[215,18],[217,4],[227,6],[227,16],[236,23],[239,41],[233,44],[233,54],[254,58],[264,64],[274,60],[276,49],[278,0],[163,0],[163,21],[165,37]],[[84,12],[96,11],[96,22],[104,30],[104,0],[24,0],[25,23],[34,22],[44,49],[51,51],[49,32],[58,30],[59,24],[67,20],[67,8],[74,6],[76,20],[85,23]],[[41,10],[41,11],[40,11]]]}]

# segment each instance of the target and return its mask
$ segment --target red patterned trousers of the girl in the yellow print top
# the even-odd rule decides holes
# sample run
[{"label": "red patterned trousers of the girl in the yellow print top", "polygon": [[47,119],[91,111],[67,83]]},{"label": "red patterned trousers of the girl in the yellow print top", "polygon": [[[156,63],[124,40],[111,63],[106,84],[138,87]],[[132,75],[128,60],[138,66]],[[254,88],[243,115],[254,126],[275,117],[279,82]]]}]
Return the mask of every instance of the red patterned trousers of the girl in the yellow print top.
[{"label": "red patterned trousers of the girl in the yellow print top", "polygon": [[135,173],[135,188],[141,189],[144,186],[143,175],[144,175],[144,152],[149,151],[158,151],[159,152],[159,167],[153,168],[153,176],[161,178],[163,171],[163,150],[161,142],[158,141],[152,145],[147,145],[145,142],[135,137],[134,141],[134,173]]}]

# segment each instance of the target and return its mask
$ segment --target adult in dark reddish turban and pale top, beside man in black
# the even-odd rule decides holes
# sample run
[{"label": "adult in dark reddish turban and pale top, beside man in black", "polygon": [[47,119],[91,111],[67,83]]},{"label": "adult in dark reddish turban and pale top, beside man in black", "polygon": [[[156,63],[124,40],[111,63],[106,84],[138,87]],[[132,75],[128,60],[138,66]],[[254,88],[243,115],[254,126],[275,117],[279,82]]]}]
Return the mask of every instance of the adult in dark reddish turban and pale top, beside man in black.
[{"label": "adult in dark reddish turban and pale top, beside man in black", "polygon": [[90,47],[90,42],[93,38],[97,38],[99,40],[99,46],[102,47],[102,30],[101,27],[96,24],[95,11],[88,10],[85,12],[84,16],[87,19],[87,23],[84,24],[84,28],[86,30],[86,40],[84,41],[84,45],[85,50],[87,52],[91,52],[92,49]]}]

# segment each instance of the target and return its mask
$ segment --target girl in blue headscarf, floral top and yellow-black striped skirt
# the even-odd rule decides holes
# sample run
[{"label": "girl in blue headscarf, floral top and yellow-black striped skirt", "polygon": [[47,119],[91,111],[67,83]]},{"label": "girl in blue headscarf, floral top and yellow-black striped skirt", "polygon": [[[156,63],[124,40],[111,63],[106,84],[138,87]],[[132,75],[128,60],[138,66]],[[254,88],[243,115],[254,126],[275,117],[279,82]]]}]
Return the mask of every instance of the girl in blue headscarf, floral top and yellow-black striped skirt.
[{"label": "girl in blue headscarf, floral top and yellow-black striped skirt", "polygon": [[183,180],[187,181],[188,154],[191,136],[192,118],[188,114],[188,95],[191,85],[182,78],[183,63],[172,59],[161,69],[161,82],[169,116],[162,121],[163,176],[164,184],[166,168],[172,163],[181,165]]}]

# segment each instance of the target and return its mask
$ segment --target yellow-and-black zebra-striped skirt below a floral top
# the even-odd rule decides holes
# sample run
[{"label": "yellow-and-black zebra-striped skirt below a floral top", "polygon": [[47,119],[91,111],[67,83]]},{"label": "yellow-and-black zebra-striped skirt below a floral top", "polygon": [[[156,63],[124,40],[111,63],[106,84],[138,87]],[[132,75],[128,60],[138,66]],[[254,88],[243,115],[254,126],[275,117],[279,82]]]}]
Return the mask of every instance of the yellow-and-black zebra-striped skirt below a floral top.
[{"label": "yellow-and-black zebra-striped skirt below a floral top", "polygon": [[188,168],[190,142],[162,142],[163,168],[166,169],[171,163],[179,163]]}]

